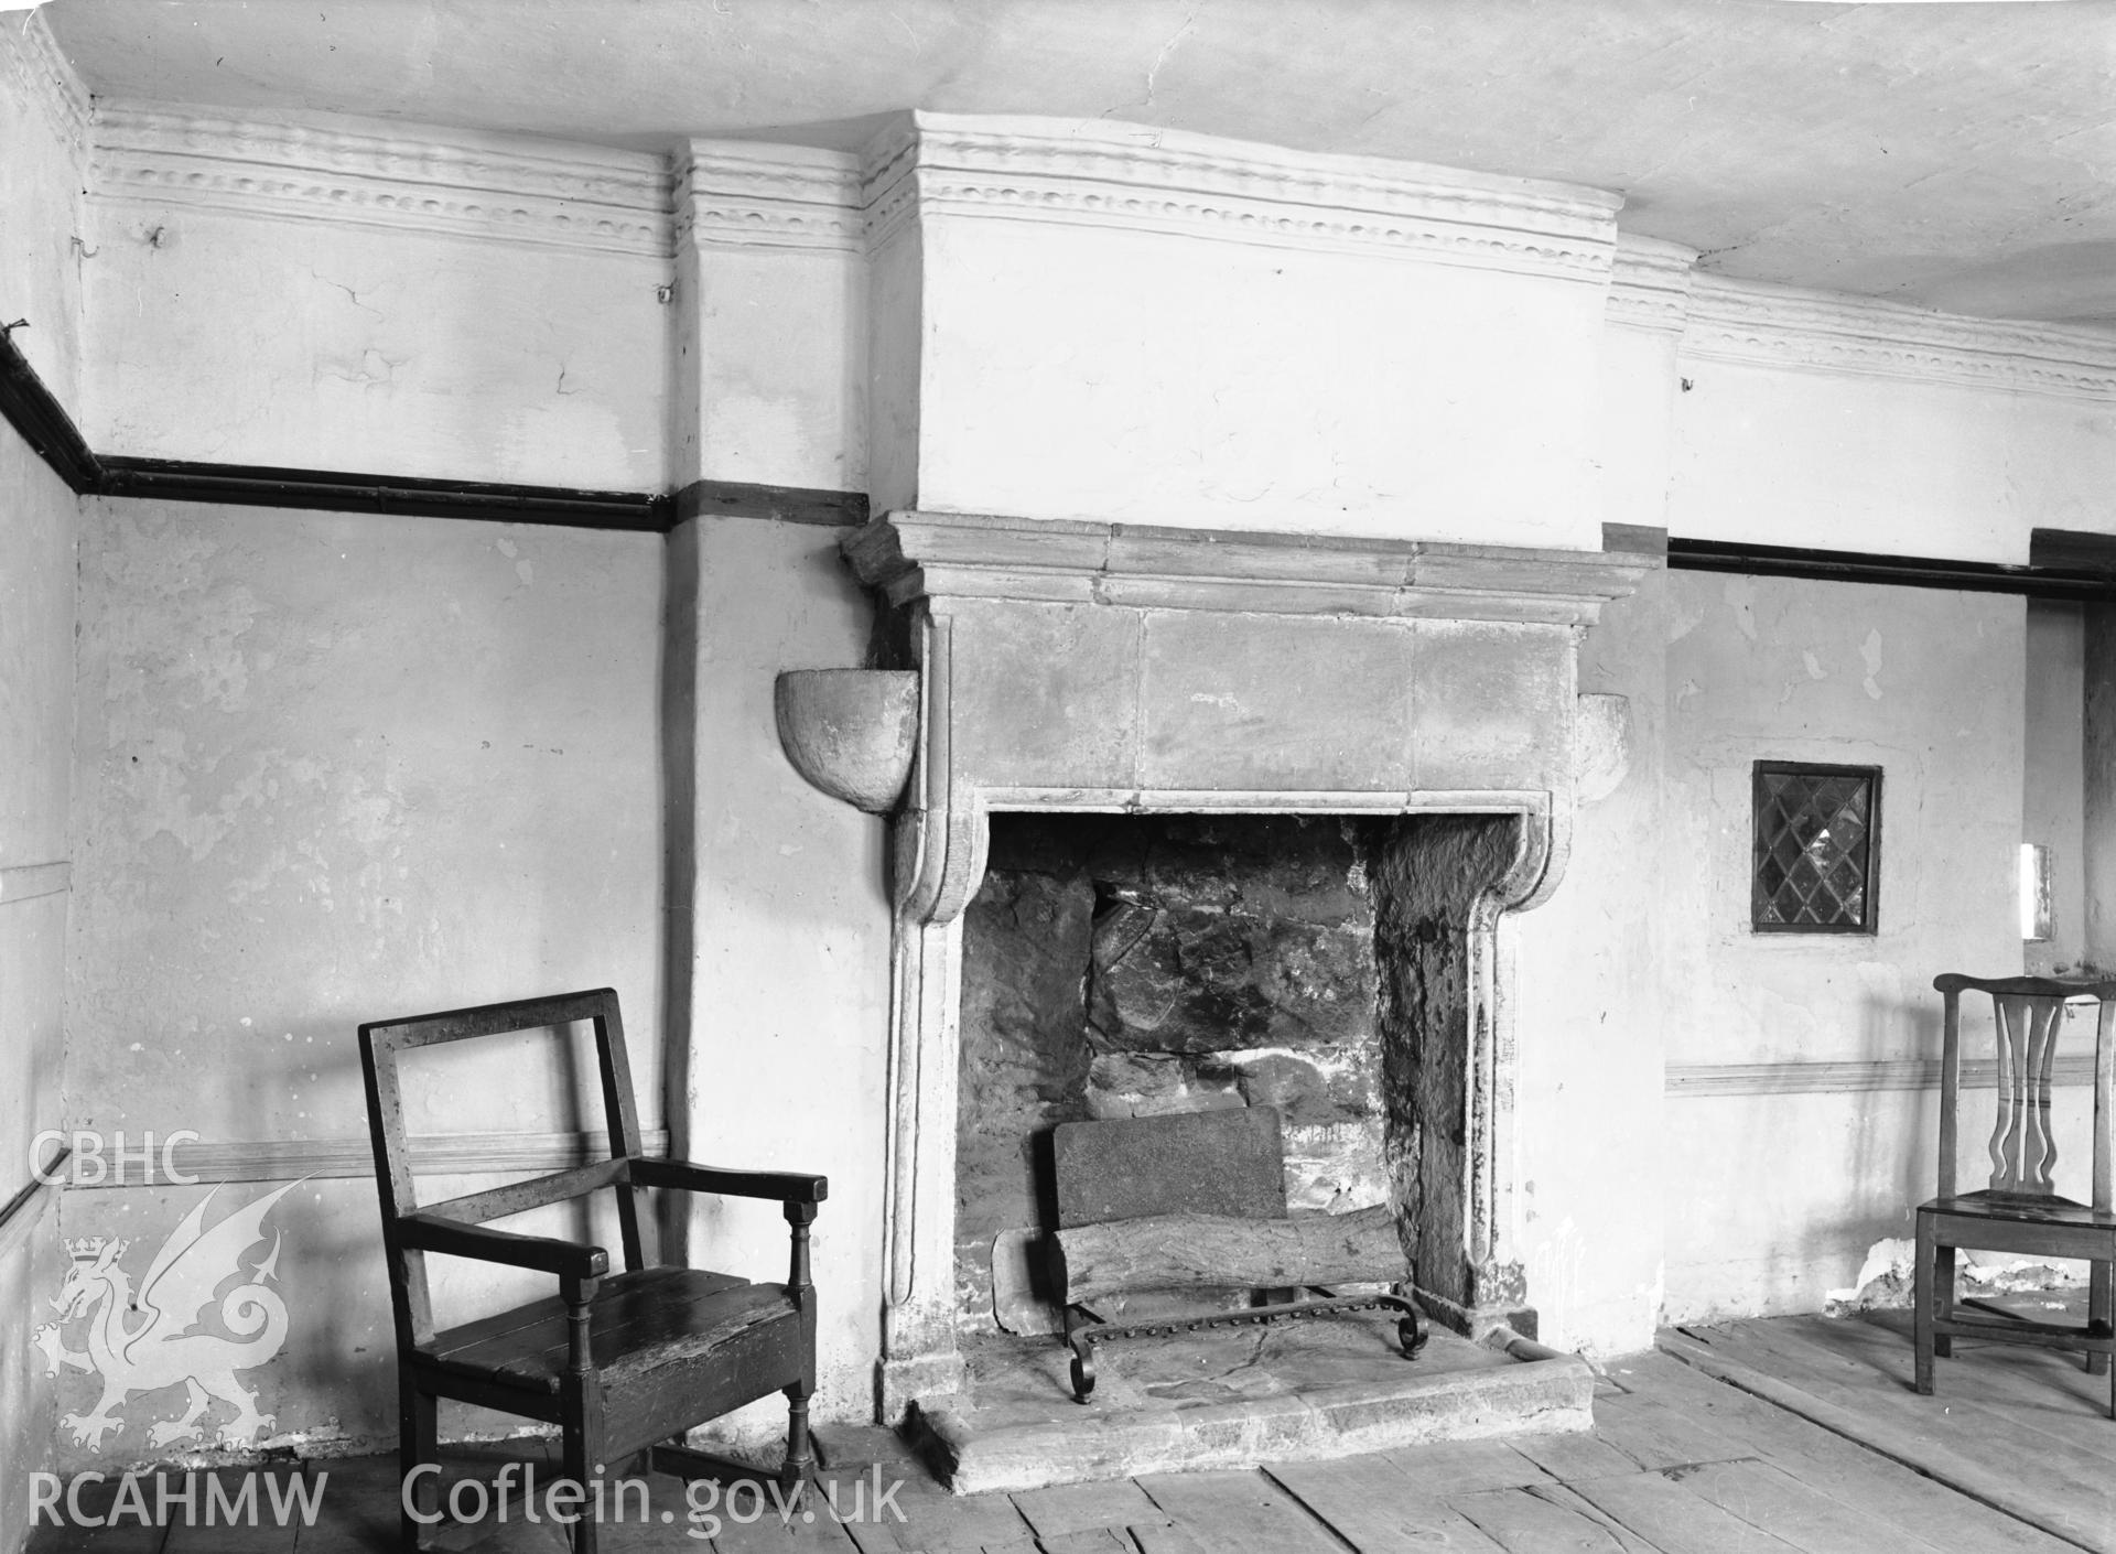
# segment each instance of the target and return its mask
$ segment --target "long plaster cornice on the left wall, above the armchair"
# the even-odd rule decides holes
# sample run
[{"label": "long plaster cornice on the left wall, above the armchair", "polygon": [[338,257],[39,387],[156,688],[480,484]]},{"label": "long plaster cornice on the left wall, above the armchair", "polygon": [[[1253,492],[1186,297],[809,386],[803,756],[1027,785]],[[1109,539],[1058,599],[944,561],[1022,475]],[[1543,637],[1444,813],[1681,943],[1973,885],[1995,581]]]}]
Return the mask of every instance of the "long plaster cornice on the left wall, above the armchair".
[{"label": "long plaster cornice on the left wall, above the armchair", "polygon": [[281,220],[669,252],[669,174],[660,157],[436,129],[421,135],[102,108],[89,188],[99,199]]}]

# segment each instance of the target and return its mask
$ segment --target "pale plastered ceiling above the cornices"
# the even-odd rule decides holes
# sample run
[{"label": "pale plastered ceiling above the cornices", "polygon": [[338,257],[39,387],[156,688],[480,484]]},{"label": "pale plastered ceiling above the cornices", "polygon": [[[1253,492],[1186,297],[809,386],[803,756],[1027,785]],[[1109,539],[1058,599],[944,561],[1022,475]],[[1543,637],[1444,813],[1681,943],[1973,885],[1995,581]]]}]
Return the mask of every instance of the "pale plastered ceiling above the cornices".
[{"label": "pale plastered ceiling above the cornices", "polygon": [[53,0],[97,93],[622,146],[899,108],[1562,178],[1750,279],[2116,328],[2116,0]]}]

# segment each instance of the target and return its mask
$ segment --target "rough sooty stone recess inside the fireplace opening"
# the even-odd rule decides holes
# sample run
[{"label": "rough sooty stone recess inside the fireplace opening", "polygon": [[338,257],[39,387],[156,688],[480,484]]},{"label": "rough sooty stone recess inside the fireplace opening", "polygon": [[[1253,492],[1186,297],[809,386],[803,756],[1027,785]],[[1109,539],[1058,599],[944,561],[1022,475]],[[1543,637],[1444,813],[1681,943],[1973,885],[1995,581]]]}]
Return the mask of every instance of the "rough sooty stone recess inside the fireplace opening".
[{"label": "rough sooty stone recess inside the fireplace opening", "polygon": [[[963,917],[956,1311],[1060,1332],[1052,1128],[1272,1107],[1287,1207],[1460,1236],[1469,908],[1507,815],[995,813]],[[1430,1073],[1430,1078],[1428,1078]],[[1191,1162],[1210,1171],[1212,1160]],[[1121,1298],[1117,1298],[1121,1302]],[[1511,1325],[1534,1336],[1534,1313]]]}]

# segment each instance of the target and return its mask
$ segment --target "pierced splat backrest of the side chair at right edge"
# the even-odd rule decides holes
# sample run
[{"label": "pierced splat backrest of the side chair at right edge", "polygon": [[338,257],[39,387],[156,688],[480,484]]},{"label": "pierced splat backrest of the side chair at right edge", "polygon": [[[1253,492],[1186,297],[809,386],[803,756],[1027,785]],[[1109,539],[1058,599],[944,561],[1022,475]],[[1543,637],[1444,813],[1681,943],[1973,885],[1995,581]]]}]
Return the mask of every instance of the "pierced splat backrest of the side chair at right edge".
[{"label": "pierced splat backrest of the side chair at right edge", "polygon": [[1998,1044],[1998,1120],[1991,1126],[1991,1192],[2023,1198],[2057,1196],[2057,1137],[2050,1133],[2050,1078],[2067,1006],[2095,999],[2095,1143],[2093,1205],[2110,1207],[2110,1088],[2116,1078],[2116,980],[2067,980],[2050,976],[1962,976],[1932,978],[1945,999],[1940,1048],[1940,1196],[1957,1192],[1955,1131],[1962,1099],[1962,995],[1989,993]]}]

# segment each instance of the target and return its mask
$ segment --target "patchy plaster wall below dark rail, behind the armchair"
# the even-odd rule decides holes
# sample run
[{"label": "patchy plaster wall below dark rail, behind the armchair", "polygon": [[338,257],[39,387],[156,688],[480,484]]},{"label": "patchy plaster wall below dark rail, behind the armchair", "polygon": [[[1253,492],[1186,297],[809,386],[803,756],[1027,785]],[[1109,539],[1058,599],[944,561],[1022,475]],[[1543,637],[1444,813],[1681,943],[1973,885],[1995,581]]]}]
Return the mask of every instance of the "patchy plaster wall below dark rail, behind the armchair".
[{"label": "patchy plaster wall below dark rail, behind the armchair", "polygon": [[[656,1126],[660,538],[163,502],[85,512],[68,1120],[133,1141],[364,1145],[360,1020],[612,984]],[[406,1071],[415,1133],[599,1126],[580,1054],[474,1048],[446,1054],[468,1067]],[[421,1179],[436,1198],[478,1186],[491,1179]],[[61,1228],[135,1236],[144,1255],[205,1192],[74,1188]],[[264,1188],[220,1192],[229,1207]],[[311,1179],[273,1228],[292,1330],[245,1376],[275,1416],[260,1440],[387,1442],[372,1181]],[[434,1268],[444,1321],[540,1289]],[[91,1380],[68,1372],[61,1404],[93,1402]],[[102,1457],[70,1438],[61,1452],[144,1457],[150,1421],[180,1410],[180,1395],[135,1399]]]}]

